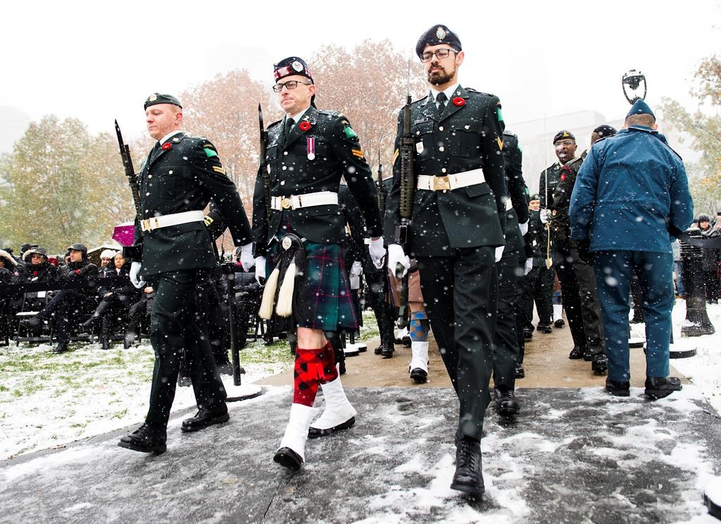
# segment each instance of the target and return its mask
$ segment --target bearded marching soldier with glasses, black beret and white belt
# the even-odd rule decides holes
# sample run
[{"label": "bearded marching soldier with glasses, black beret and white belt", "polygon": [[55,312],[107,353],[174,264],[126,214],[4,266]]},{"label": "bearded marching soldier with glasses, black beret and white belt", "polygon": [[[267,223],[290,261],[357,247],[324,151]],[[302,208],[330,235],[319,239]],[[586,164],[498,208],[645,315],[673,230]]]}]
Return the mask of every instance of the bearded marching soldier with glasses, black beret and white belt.
[{"label": "bearded marching soldier with glasses, black beret and white belt", "polygon": [[[494,251],[503,252],[505,224],[503,117],[492,94],[461,87],[461,41],[445,25],[418,40],[430,93],[412,104],[415,198],[407,250],[420,283],[443,363],[460,401],[456,473],[451,489],[479,495],[480,439],[490,402],[497,277]],[[403,136],[399,115],[396,147]],[[386,211],[385,232],[400,223],[400,162]],[[400,244],[390,244],[388,266],[410,266]]]}]

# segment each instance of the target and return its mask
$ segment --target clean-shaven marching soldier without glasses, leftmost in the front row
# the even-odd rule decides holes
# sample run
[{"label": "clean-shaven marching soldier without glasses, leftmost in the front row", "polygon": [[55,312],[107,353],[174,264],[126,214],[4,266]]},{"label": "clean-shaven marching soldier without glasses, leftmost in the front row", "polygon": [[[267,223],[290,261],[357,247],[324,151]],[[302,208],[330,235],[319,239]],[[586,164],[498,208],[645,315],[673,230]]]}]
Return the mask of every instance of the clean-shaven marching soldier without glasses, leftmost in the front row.
[{"label": "clean-shaven marching soldier without glasses, leftmost in the front row", "polygon": [[145,423],[118,445],[163,453],[183,350],[190,355],[198,413],[180,429],[198,431],[229,419],[226,391],[195,296],[196,285],[216,267],[203,222],[203,209],[211,199],[221,208],[235,244],[243,246],[248,268],[253,258],[247,216],[213,143],[183,133],[182,105],[176,97],[154,93],[144,107],[148,133],[157,142],[138,175],[143,214],[136,217],[136,244],[141,228],[145,234],[141,260],[131,265],[131,280],[138,288],[147,280],[155,290],[150,333],[155,368]]}]

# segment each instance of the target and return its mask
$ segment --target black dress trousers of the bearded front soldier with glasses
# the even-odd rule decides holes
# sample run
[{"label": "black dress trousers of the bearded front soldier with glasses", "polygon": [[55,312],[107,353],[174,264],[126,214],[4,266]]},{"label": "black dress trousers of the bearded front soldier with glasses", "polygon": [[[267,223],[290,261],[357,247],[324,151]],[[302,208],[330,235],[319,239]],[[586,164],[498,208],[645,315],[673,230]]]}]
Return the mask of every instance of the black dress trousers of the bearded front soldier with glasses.
[{"label": "black dress trousers of the bearded front soldier with glasses", "polygon": [[416,257],[430,329],[460,402],[459,434],[481,439],[490,403],[497,277],[492,247]]}]

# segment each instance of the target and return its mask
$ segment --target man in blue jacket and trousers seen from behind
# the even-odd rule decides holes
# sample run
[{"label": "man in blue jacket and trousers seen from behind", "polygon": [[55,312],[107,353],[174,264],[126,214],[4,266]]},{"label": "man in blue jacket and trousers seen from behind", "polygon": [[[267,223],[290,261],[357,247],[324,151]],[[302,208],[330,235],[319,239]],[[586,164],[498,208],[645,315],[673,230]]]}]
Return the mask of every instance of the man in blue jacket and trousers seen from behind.
[{"label": "man in blue jacket and trousers seen from behind", "polygon": [[596,142],[571,195],[571,237],[590,242],[601,299],[609,376],[606,390],[629,395],[629,293],[640,277],[646,317],[645,394],[660,399],[681,389],[668,376],[673,308],[671,235],[693,220],[694,204],[681,157],[656,130],[642,99],[624,129]]}]

